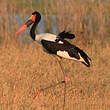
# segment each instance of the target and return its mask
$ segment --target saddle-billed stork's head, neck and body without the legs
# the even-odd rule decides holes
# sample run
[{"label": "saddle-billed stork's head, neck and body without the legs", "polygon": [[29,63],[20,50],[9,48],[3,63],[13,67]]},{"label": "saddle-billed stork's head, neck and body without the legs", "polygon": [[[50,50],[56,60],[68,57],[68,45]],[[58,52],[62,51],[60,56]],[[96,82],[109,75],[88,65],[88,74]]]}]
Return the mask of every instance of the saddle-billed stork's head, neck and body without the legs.
[{"label": "saddle-billed stork's head, neck and body without the legs", "polygon": [[38,41],[48,53],[57,55],[61,58],[76,60],[82,62],[87,67],[90,67],[91,59],[88,55],[80,48],[65,40],[65,38],[75,38],[74,34],[65,31],[59,33],[58,35],[51,33],[36,34],[35,30],[40,20],[40,13],[37,11],[33,12],[28,21],[16,32],[16,35],[18,36],[20,33],[25,31],[27,27],[33,24],[30,30],[31,38],[34,41]]}]

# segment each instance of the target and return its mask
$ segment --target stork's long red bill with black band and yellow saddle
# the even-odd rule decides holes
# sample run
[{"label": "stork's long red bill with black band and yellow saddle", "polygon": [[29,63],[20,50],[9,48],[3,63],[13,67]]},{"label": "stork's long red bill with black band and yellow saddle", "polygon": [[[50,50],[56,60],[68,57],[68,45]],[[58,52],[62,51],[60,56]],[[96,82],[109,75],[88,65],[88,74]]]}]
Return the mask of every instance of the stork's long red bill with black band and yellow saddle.
[{"label": "stork's long red bill with black band and yellow saddle", "polygon": [[16,36],[18,36],[20,33],[24,32],[27,29],[27,27],[29,27],[32,23],[34,23],[35,22],[35,18],[36,18],[36,16],[35,15],[32,15],[29,18],[29,20],[23,26],[21,26],[18,29],[18,31],[16,32]]}]

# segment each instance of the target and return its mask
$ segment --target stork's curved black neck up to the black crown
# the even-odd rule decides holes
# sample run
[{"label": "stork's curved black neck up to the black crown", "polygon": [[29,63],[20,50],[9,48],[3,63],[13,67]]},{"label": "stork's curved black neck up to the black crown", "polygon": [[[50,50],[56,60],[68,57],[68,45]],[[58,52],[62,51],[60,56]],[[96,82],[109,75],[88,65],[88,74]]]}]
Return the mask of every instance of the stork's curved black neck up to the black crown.
[{"label": "stork's curved black neck up to the black crown", "polygon": [[36,36],[35,30],[36,30],[36,27],[37,27],[38,23],[39,23],[40,20],[41,20],[41,15],[40,15],[40,13],[37,12],[37,11],[33,12],[32,15],[35,15],[35,16],[36,16],[36,19],[35,19],[34,24],[33,24],[32,27],[31,27],[30,36],[31,36],[31,38],[32,38],[33,40],[35,40],[35,36]]}]

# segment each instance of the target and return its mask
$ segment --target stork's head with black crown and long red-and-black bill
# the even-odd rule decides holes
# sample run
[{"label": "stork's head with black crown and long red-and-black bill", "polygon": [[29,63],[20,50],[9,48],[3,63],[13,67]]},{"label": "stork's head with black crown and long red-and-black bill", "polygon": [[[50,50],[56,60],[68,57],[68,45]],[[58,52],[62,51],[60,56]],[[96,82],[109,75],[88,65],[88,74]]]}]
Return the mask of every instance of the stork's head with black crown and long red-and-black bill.
[{"label": "stork's head with black crown and long red-and-black bill", "polygon": [[25,22],[24,25],[16,32],[16,35],[18,36],[20,33],[24,32],[31,24],[39,23],[40,20],[41,20],[40,13],[34,11],[31,17],[28,19],[28,21]]}]

